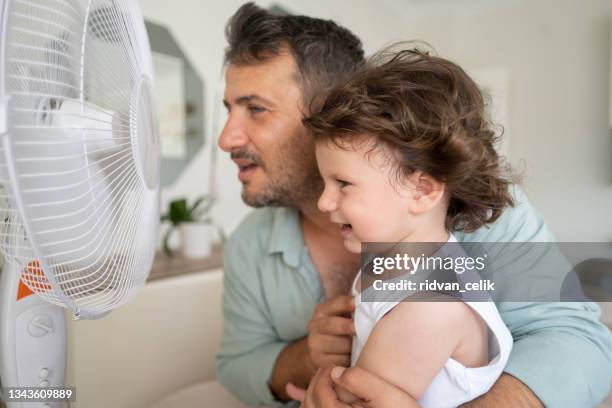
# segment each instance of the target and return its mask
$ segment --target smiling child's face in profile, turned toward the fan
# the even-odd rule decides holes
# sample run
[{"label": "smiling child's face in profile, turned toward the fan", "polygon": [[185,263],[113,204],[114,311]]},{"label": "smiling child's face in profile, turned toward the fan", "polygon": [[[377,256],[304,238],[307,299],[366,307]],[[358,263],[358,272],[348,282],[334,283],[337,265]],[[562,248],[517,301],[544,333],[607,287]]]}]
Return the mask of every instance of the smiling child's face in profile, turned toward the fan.
[{"label": "smiling child's face in profile, turned toward the fan", "polygon": [[[380,148],[382,149],[382,148]],[[329,213],[354,253],[361,242],[399,242],[411,232],[410,206],[414,186],[393,182],[390,159],[369,143],[349,150],[317,142],[316,156],[325,189],[318,206]]]}]

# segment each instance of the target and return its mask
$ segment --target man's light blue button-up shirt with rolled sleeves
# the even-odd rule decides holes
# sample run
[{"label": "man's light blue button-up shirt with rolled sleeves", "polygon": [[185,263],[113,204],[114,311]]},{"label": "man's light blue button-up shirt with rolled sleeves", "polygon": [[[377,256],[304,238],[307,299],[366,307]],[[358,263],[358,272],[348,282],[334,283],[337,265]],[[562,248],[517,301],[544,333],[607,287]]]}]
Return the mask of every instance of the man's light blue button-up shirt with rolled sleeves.
[{"label": "man's light blue button-up shirt with rolled sleeves", "polygon": [[[551,242],[552,233],[520,191],[517,205],[489,227],[455,233],[460,242]],[[251,212],[224,253],[224,333],[219,381],[250,405],[275,402],[268,380],[281,350],[307,335],[324,300],[304,246],[298,212]],[[592,407],[612,383],[612,335],[594,303],[500,302],[514,347],[504,371],[525,383],[547,407]]]}]

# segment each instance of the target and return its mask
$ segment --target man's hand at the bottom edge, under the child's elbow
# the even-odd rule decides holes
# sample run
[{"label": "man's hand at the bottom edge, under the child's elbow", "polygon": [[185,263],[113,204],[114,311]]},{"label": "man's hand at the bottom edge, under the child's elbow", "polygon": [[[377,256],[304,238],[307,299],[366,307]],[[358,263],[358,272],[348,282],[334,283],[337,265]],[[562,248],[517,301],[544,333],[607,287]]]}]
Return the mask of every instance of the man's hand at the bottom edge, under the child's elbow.
[{"label": "man's hand at the bottom edge, under the child's elbow", "polygon": [[335,388],[349,391],[365,408],[419,407],[408,393],[360,367],[327,367],[313,377],[302,408],[351,408],[338,399]]}]

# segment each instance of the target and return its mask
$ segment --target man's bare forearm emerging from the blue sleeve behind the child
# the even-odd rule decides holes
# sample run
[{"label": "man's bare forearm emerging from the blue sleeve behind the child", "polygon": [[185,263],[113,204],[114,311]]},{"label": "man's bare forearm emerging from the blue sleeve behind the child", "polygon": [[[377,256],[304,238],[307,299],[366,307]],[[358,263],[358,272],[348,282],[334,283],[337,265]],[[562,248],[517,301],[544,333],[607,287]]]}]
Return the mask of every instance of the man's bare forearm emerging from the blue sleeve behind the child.
[{"label": "man's bare forearm emerging from the blue sleeve behind the child", "polygon": [[461,407],[544,408],[544,405],[519,379],[503,373],[486,394]]}]

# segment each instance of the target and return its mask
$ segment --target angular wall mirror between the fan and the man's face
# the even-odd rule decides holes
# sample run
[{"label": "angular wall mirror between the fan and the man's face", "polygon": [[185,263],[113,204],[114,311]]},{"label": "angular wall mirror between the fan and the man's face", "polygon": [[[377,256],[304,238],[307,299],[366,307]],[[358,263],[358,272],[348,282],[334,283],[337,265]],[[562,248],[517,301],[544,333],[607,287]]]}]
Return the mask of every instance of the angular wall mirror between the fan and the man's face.
[{"label": "angular wall mirror between the fan and the man's face", "polygon": [[166,27],[145,25],[155,71],[161,185],[168,186],[204,147],[204,83]]}]

